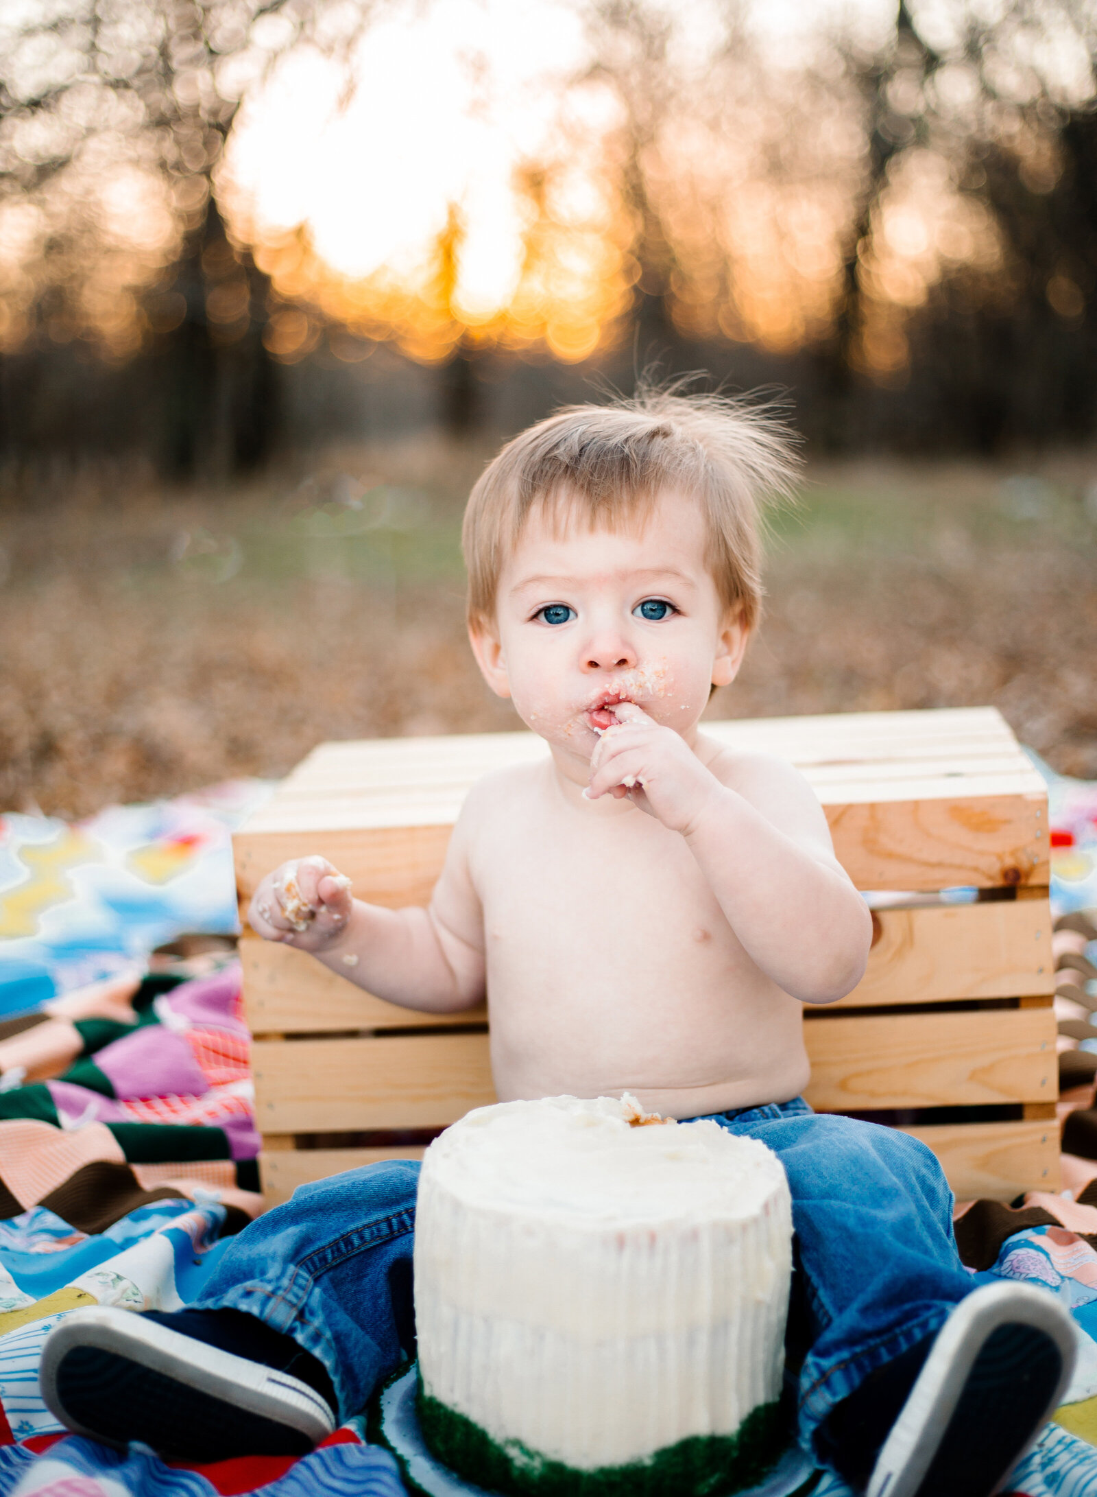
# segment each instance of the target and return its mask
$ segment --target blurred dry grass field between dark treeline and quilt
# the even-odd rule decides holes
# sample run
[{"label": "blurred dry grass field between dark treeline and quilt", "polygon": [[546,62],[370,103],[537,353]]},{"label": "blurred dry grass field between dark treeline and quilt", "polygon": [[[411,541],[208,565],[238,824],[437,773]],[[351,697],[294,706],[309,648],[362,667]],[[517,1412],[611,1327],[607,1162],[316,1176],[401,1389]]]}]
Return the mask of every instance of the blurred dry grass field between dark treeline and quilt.
[{"label": "blurred dry grass field between dark treeline and quilt", "polygon": [[[464,642],[483,452],[331,452],[233,491],[84,475],[0,509],[0,810],[82,816],[314,743],[516,726]],[[816,467],[712,714],[995,704],[1097,777],[1097,457]]]}]

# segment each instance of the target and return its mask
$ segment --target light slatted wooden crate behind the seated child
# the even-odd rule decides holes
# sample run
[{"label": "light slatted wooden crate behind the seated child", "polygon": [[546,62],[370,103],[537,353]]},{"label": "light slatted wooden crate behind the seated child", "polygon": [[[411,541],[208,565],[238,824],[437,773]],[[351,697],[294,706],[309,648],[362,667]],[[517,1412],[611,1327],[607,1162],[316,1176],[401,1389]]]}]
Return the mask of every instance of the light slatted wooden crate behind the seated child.
[{"label": "light slatted wooden crate behind the seated child", "polygon": [[[861,713],[705,731],[798,765],[858,888],[908,894],[876,909],[859,987],[805,1010],[813,1106],[904,1127],[935,1150],[959,1196],[1058,1189],[1048,799],[1001,716]],[[531,734],[322,744],[236,834],[241,901],[286,858],[323,853],[359,898],[425,903],[473,780],[545,753]],[[979,903],[926,898],[956,886],[979,889]],[[483,1009],[400,1009],[254,937],[242,960],[272,1201],[338,1169],[416,1156],[422,1147],[385,1135],[444,1127],[494,1100]]]}]

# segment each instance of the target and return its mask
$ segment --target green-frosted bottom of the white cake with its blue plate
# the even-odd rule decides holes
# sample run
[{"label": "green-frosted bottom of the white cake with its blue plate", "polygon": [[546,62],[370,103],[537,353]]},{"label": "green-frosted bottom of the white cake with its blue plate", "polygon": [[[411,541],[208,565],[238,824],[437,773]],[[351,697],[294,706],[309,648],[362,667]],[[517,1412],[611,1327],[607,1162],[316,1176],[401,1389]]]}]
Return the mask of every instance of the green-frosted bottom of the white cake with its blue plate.
[{"label": "green-frosted bottom of the white cake with its blue plate", "polygon": [[407,1364],[373,1406],[371,1439],[394,1452],[407,1485],[427,1497],[735,1497],[748,1491],[790,1497],[810,1491],[817,1479],[813,1464],[790,1446],[775,1403],[754,1409],[733,1436],[691,1436],[644,1461],[590,1472],[519,1442],[492,1440],[471,1419],[431,1398],[418,1368]]}]

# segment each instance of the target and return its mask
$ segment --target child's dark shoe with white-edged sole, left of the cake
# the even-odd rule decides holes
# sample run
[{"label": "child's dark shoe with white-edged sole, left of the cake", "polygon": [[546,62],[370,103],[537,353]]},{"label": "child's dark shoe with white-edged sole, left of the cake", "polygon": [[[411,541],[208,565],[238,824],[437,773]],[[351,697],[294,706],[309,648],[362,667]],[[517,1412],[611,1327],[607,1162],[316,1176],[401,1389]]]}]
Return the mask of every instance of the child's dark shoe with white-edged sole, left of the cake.
[{"label": "child's dark shoe with white-edged sole, left of the cake", "polygon": [[[247,1416],[278,1425],[308,1446],[335,1428],[326,1400],[289,1373],[207,1346],[133,1310],[105,1305],[75,1310],[51,1331],[39,1383],[67,1430],[123,1448],[139,1440],[156,1451],[171,1449],[175,1434],[184,1443],[198,1436],[216,1451],[219,1440],[232,1442]],[[198,1395],[190,1400],[192,1421],[189,1392]],[[187,1422],[198,1430],[181,1428]],[[186,1449],[181,1454],[189,1458]]]}]

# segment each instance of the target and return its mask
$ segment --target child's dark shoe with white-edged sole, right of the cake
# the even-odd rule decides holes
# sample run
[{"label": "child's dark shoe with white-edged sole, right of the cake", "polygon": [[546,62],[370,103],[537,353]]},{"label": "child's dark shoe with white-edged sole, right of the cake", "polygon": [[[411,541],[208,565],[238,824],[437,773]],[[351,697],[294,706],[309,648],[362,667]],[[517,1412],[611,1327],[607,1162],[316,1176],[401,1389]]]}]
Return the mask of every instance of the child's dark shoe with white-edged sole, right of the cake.
[{"label": "child's dark shoe with white-edged sole, right of the cake", "polygon": [[[971,1379],[991,1337],[1007,1326],[1016,1328],[1012,1338],[1013,1361],[1003,1358],[1000,1364],[991,1361],[988,1365],[983,1358],[976,1379]],[[976,1422],[974,1431],[968,1431],[968,1445],[973,1449],[985,1448],[985,1464],[1001,1469],[986,1470],[986,1485],[982,1490],[971,1485],[964,1488],[958,1479],[955,1491],[989,1497],[1031,1449],[1048,1416],[1058,1407],[1070,1383],[1075,1352],[1073,1322],[1046,1289],[1015,1283],[974,1289],[959,1301],[937,1334],[910,1397],[877,1457],[867,1497],[929,1497],[928,1488],[922,1493],[922,1484],[946,1439],[959,1440],[962,1448],[964,1436],[950,1431],[949,1425],[965,1401],[965,1394],[974,1421],[979,1421],[980,1410],[985,1415],[989,1415],[991,1407],[997,1410],[994,1422]],[[1039,1385],[1028,1392],[1022,1386],[1024,1371],[1018,1371],[1018,1365],[1024,1368],[1027,1355],[1030,1368],[1037,1362],[1043,1368]],[[1033,1401],[1039,1407],[1033,1407]],[[934,1485],[938,1493],[943,1491],[949,1485],[947,1478],[935,1479]]]}]

